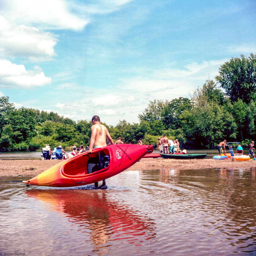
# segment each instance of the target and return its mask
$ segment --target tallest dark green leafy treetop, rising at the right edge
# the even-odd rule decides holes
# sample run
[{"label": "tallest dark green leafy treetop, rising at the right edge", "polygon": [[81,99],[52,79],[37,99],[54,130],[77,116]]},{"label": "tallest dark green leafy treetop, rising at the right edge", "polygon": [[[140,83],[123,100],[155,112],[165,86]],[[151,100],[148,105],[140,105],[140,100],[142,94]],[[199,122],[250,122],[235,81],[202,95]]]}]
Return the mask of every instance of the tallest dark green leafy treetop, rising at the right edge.
[{"label": "tallest dark green leafy treetop, rising at the right edge", "polygon": [[215,79],[232,102],[241,99],[249,104],[256,99],[256,55],[240,56],[225,62]]}]

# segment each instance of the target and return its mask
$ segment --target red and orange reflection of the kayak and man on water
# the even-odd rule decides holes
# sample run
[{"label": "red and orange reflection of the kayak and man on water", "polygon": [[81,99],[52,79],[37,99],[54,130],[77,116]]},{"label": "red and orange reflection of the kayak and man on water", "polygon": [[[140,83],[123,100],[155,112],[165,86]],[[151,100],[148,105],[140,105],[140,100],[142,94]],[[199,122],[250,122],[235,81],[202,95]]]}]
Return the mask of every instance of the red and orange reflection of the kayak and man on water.
[{"label": "red and orange reflection of the kayak and man on water", "polygon": [[88,233],[94,246],[93,252],[99,251],[99,255],[102,250],[110,250],[111,241],[141,243],[155,237],[152,219],[108,199],[105,191],[31,189],[25,193],[46,202],[50,206],[48,210],[65,213],[70,222],[78,225],[78,230],[91,230]]}]

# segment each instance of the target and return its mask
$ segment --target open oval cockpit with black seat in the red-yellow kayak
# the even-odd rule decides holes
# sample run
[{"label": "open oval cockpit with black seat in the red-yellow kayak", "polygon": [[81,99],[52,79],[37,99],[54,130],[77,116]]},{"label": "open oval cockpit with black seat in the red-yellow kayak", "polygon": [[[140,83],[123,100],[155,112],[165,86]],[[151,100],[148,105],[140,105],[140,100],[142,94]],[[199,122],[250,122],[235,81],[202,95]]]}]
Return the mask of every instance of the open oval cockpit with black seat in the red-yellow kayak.
[{"label": "open oval cockpit with black seat in the red-yellow kayak", "polygon": [[[68,177],[82,177],[104,172],[108,169],[110,162],[109,151],[104,148],[91,154],[84,154],[82,157],[75,157],[65,164],[62,174]],[[95,173],[96,172],[96,173]]]}]

